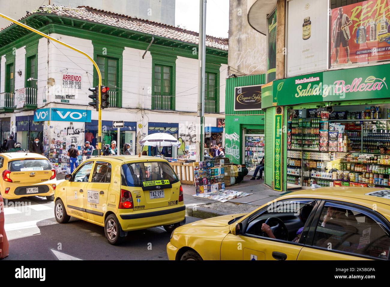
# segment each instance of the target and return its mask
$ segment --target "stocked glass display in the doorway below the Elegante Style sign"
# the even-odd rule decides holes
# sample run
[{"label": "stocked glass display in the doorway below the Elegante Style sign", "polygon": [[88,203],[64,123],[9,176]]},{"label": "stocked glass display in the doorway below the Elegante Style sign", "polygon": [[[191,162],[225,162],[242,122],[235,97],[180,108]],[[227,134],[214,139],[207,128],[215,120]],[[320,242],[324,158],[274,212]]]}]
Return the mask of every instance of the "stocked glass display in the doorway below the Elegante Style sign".
[{"label": "stocked glass display in the doorway below the Elegante Style sign", "polygon": [[264,157],[264,134],[244,134],[244,140],[244,163],[249,174],[253,175],[256,166]]}]

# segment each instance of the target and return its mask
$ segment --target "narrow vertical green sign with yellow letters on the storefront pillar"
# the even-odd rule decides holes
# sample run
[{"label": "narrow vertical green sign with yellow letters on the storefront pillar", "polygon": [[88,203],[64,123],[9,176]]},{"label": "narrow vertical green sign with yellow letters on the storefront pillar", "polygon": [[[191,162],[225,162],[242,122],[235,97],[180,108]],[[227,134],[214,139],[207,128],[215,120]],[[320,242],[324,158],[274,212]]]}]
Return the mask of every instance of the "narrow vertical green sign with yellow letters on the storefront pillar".
[{"label": "narrow vertical green sign with yellow letters on the storefront pillar", "polygon": [[282,191],[282,125],[283,115],[276,114],[273,136],[273,189],[276,191]]}]

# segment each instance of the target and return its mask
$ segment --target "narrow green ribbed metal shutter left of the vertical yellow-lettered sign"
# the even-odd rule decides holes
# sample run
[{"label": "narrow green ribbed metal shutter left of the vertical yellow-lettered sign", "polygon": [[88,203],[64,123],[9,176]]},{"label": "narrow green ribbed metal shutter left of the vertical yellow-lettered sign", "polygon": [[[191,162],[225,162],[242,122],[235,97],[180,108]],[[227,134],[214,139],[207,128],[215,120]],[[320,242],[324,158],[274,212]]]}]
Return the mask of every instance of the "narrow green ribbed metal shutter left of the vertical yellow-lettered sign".
[{"label": "narrow green ribbed metal shutter left of the vertical yellow-lettered sign", "polygon": [[272,126],[273,126],[273,108],[266,109],[266,133],[265,133],[265,184],[272,187],[273,182],[273,138],[272,138]]}]

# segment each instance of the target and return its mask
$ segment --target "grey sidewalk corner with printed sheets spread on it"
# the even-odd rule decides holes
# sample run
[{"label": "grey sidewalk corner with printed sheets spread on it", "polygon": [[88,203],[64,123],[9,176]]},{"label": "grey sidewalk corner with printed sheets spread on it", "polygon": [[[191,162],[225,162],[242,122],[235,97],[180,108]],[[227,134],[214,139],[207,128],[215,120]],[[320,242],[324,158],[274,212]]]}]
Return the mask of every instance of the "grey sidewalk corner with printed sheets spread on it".
[{"label": "grey sidewalk corner with printed sheets spread on it", "polygon": [[250,180],[251,177],[245,176],[243,182],[229,186],[226,189],[253,194],[229,200],[225,203],[193,196],[196,193],[195,187],[183,184],[186,215],[209,218],[226,214],[248,213],[280,196],[281,193],[265,185],[264,180]]}]

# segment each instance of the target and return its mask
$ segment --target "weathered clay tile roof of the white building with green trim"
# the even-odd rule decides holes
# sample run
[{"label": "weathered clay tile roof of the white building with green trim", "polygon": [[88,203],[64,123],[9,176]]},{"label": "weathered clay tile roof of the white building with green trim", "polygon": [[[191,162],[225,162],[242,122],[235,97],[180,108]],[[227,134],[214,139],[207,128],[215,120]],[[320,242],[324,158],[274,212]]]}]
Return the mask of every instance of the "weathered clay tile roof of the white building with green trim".
[{"label": "weathered clay tile roof of the white building with green trim", "polygon": [[[98,10],[89,6],[78,6],[77,8],[74,8],[57,5],[45,5],[39,7],[39,9],[35,10],[34,12],[52,13],[58,16],[67,16],[80,20],[88,20],[195,45],[199,44],[199,34],[196,32],[149,20],[138,19],[123,14]],[[206,46],[227,51],[228,39],[206,36]]]}]

